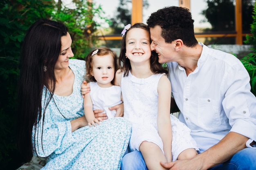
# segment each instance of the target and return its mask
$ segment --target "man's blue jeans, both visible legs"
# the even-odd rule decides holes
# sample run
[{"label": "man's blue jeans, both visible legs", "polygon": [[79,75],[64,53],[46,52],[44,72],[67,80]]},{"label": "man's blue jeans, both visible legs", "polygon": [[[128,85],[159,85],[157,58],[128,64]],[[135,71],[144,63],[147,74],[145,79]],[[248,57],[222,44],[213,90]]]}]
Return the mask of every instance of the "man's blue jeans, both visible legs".
[{"label": "man's blue jeans, both visible legs", "polygon": [[[121,170],[148,170],[139,151],[124,155]],[[231,159],[209,170],[256,170],[256,150],[245,148],[237,152]]]}]

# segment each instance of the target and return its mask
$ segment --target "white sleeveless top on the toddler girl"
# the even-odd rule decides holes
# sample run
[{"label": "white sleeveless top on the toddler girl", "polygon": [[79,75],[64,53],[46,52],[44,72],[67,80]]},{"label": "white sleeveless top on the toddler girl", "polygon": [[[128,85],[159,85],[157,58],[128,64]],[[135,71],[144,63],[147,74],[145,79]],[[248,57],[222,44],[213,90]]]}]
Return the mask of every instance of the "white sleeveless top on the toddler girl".
[{"label": "white sleeveless top on the toddler girl", "polygon": [[97,82],[90,82],[90,89],[93,110],[105,110],[108,119],[115,117],[116,111],[108,108],[122,103],[120,86],[102,88]]}]

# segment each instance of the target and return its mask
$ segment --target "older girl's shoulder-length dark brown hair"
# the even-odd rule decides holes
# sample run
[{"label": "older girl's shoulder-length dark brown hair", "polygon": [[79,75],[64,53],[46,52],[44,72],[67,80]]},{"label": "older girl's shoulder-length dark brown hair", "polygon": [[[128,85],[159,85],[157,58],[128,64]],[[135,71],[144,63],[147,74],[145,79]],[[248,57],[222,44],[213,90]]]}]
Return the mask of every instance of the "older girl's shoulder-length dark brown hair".
[{"label": "older girl's shoulder-length dark brown hair", "polygon": [[[120,49],[120,56],[119,56],[119,65],[122,65],[121,71],[124,71],[124,76],[127,76],[129,73],[129,70],[131,70],[131,64],[130,60],[126,58],[126,35],[127,33],[134,28],[139,28],[139,29],[144,29],[149,32],[149,27],[146,24],[143,23],[136,23],[130,27],[123,36],[123,39],[121,40],[121,49]],[[150,35],[150,34],[149,34]],[[150,39],[150,38],[149,38]],[[150,40],[151,43],[151,40]],[[151,52],[151,57],[150,57],[150,69],[153,73],[159,74],[159,73],[166,73],[168,74],[168,69],[164,68],[162,64],[158,62],[158,56],[155,51]]]}]

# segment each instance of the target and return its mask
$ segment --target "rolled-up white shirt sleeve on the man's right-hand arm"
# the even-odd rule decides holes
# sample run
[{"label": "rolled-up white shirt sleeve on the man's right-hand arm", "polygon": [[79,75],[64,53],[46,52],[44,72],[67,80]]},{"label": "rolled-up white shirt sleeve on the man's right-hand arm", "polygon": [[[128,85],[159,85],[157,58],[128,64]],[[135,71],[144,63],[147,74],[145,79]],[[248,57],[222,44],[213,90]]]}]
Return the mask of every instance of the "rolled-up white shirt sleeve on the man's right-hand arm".
[{"label": "rolled-up white shirt sleeve on the man's right-hand arm", "polygon": [[231,132],[256,141],[256,97],[250,92],[250,77],[243,64],[236,64],[227,72],[223,82],[225,98],[222,105]]}]

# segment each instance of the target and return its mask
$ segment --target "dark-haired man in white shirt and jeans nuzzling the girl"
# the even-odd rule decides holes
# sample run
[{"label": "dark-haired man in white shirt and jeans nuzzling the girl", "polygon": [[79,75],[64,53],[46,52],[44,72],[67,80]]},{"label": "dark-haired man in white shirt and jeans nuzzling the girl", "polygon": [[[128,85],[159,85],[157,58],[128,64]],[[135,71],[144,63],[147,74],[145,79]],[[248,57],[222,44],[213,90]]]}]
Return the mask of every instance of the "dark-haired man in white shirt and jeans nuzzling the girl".
[{"label": "dark-haired man in white shirt and jeans nuzzling the girl", "polygon": [[[179,119],[200,148],[191,160],[161,165],[171,170],[256,169],[256,97],[249,74],[234,55],[198,43],[193,22],[182,7],[159,9],[147,20],[151,50],[160,63],[168,63]],[[147,169],[139,152],[124,156],[122,170],[129,169]]]}]

